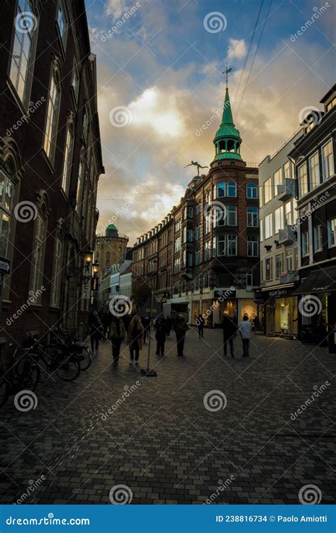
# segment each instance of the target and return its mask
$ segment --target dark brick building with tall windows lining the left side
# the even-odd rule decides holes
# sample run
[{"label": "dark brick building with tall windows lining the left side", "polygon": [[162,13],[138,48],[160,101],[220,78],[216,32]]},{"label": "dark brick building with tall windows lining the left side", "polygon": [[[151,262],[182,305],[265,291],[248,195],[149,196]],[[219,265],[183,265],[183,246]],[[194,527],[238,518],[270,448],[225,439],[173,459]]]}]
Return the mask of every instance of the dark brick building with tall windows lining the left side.
[{"label": "dark brick building with tall windows lining the left side", "polygon": [[[103,173],[84,0],[1,6],[0,179],[6,352],[33,333],[86,320],[96,190]],[[52,44],[50,44],[52,43]],[[90,253],[91,252],[91,253]]]}]

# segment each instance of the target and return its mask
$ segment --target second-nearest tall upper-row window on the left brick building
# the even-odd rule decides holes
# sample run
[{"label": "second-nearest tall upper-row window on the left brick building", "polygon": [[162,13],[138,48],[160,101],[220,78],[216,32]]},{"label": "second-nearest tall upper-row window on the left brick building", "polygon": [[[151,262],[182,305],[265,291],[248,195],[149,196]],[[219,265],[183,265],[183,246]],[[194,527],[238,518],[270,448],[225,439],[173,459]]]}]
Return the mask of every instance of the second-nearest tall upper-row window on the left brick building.
[{"label": "second-nearest tall upper-row window on the left brick building", "polygon": [[43,145],[45,153],[51,162],[53,162],[55,156],[60,95],[60,71],[54,66],[52,69],[47,101],[47,121],[45,125],[45,140]]}]

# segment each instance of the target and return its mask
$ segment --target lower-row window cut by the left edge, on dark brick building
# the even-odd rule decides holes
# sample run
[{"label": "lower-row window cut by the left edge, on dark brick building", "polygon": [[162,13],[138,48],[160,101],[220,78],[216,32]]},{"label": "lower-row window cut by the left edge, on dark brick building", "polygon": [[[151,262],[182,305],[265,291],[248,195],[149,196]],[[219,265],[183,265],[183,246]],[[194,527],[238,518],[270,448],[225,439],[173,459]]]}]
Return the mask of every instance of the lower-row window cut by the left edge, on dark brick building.
[{"label": "lower-row window cut by the left edge, on dark brick building", "polygon": [[4,174],[0,174],[0,256],[9,255],[11,211],[13,208],[14,185]]}]

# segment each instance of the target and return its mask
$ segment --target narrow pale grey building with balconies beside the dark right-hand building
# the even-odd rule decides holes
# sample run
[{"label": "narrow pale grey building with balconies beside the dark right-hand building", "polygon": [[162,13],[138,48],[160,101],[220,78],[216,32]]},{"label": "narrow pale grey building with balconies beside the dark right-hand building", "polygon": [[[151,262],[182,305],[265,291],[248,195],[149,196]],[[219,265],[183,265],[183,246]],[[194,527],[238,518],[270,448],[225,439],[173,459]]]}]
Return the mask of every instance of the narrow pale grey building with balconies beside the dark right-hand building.
[{"label": "narrow pale grey building with balconies beside the dark right-hand building", "polygon": [[[267,335],[298,335],[298,233],[295,173],[288,158],[302,130],[259,164],[261,298],[259,321]],[[260,291],[259,291],[260,294]]]}]

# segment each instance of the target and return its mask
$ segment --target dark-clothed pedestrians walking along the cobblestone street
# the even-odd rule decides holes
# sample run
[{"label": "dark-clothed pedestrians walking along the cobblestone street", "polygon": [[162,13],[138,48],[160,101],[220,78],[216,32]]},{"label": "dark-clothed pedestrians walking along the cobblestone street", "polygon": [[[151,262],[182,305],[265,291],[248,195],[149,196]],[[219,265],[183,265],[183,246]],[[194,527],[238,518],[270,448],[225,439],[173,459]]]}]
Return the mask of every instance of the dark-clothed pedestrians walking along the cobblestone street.
[{"label": "dark-clothed pedestrians walking along the cobblestone street", "polygon": [[[204,322],[202,315],[198,315],[196,323],[200,339],[203,339]],[[92,354],[97,353],[99,340],[109,339],[112,346],[113,363],[118,364],[121,344],[125,340],[129,345],[130,363],[138,364],[140,351],[146,342],[146,338],[150,335],[151,325],[150,318],[147,317],[141,319],[138,315],[133,317],[125,315],[121,318],[111,315],[111,313],[99,315],[97,310],[92,310],[89,315],[91,352]],[[174,330],[177,338],[177,356],[183,357],[186,331],[189,329],[184,315],[176,315],[174,318],[159,315],[153,325],[157,342],[156,354],[164,356],[165,342],[170,338],[171,332]],[[235,320],[228,315],[223,315],[220,327],[223,329],[224,355],[228,354],[229,347],[231,357],[235,357],[234,340],[237,333],[239,333],[242,340],[242,357],[249,357],[252,324],[248,316],[244,315],[240,326],[238,326]]]}]

